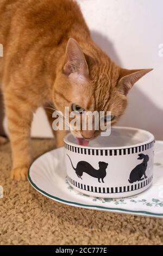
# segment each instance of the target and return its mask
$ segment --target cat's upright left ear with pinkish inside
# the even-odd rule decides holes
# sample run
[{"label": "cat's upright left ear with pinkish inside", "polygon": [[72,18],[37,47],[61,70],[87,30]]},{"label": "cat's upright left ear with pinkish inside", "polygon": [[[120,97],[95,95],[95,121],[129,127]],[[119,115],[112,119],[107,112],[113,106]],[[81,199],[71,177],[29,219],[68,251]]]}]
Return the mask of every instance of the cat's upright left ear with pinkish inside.
[{"label": "cat's upright left ear with pinkish inside", "polygon": [[70,38],[67,43],[66,59],[63,70],[66,76],[70,76],[71,74],[72,76],[74,74],[76,77],[77,75],[83,77],[89,76],[89,69],[84,53],[78,45],[78,42],[73,38]]}]

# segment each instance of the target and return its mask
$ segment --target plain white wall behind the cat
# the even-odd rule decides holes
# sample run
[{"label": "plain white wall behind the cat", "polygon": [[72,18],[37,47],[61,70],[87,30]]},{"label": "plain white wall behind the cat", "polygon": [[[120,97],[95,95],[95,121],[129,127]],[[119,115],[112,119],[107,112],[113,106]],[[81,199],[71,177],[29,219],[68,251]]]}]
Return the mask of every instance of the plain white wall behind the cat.
[{"label": "plain white wall behind the cat", "polygon": [[[118,65],[154,68],[129,93],[129,105],[118,125],[140,127],[163,139],[162,0],[78,0],[92,37]],[[39,112],[34,136],[51,136]]]}]

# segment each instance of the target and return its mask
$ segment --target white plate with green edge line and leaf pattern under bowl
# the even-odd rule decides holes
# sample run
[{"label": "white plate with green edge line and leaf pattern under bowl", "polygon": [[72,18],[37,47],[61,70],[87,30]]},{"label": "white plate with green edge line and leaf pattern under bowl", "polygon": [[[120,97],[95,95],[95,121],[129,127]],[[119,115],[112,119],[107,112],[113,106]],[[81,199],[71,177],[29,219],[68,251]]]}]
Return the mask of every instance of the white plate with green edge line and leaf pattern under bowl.
[{"label": "white plate with green edge line and leaf pattern under bowl", "polygon": [[80,208],[163,218],[163,142],[155,143],[153,185],[134,197],[102,199],[85,196],[67,182],[64,148],[40,156],[29,168],[28,180],[44,196]]}]

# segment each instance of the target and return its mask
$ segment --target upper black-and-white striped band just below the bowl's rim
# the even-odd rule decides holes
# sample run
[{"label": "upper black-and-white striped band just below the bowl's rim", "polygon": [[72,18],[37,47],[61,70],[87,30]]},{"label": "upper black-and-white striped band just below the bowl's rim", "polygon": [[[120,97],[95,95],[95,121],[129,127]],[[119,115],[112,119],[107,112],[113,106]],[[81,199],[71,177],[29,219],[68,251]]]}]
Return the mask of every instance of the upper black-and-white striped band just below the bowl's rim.
[{"label": "upper black-and-white striped band just below the bowl's rim", "polygon": [[134,153],[140,153],[142,151],[153,148],[155,141],[152,141],[148,144],[127,148],[127,149],[86,149],[80,147],[74,147],[65,143],[65,148],[74,153],[91,155],[91,156],[121,156],[121,155],[130,155]]}]

